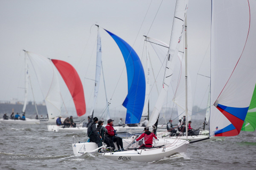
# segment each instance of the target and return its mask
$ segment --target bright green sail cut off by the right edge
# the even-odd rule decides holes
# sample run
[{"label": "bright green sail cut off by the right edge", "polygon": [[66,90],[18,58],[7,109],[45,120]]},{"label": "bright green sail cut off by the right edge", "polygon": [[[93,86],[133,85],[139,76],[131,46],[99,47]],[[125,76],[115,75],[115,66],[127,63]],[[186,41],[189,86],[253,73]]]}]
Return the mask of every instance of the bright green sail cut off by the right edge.
[{"label": "bright green sail cut off by the right edge", "polygon": [[256,128],[256,86],[253,91],[252,100],[242,126],[242,131],[255,131]]}]

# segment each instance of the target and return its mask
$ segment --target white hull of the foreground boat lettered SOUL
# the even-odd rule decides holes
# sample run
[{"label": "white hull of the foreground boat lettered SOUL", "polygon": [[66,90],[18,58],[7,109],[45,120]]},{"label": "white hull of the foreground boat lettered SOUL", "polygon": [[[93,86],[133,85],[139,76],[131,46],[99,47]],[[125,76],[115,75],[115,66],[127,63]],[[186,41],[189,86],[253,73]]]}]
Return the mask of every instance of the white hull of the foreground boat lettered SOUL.
[{"label": "white hull of the foreground boat lettered SOUL", "polygon": [[[124,149],[127,148],[130,143],[133,142],[135,136],[130,139],[123,139]],[[154,142],[155,143],[155,142]],[[153,149],[138,149],[136,150],[127,150],[121,152],[106,152],[103,154],[108,159],[112,160],[132,160],[135,162],[153,162],[155,160],[163,159],[164,157],[171,156],[175,153],[186,152],[188,141],[186,140],[176,140],[176,139],[159,139],[156,141],[157,144],[155,146],[165,145],[161,148],[153,148]],[[116,145],[116,143],[115,143]],[[81,142],[81,143],[73,143],[73,152],[77,156],[81,156],[85,153],[93,153],[98,152],[98,146],[94,142]],[[103,148],[106,146],[103,146]],[[133,144],[132,147],[138,148],[138,142]],[[130,147],[130,148],[132,148]],[[117,148],[116,148],[117,149]]]}]

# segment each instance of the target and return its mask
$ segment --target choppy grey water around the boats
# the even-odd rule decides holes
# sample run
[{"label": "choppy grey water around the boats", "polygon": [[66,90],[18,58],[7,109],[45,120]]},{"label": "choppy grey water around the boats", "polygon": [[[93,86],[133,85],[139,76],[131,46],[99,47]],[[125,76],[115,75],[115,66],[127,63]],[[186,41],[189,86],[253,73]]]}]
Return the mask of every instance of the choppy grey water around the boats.
[{"label": "choppy grey water around the boats", "polygon": [[[256,133],[225,141],[191,143],[187,153],[153,163],[114,161],[99,154],[74,156],[75,133],[48,132],[46,124],[0,124],[1,169],[256,169]],[[84,133],[77,134],[85,140]]]}]

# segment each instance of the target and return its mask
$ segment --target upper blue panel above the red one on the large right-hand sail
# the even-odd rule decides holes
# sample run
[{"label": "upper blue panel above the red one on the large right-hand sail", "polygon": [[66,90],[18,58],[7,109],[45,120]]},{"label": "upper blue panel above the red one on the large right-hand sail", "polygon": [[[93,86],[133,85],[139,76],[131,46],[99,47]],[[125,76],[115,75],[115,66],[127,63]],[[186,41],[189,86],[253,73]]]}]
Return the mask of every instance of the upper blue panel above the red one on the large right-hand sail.
[{"label": "upper blue panel above the red one on the large right-hand sail", "polygon": [[246,114],[248,112],[249,107],[243,107],[243,108],[238,108],[238,107],[228,107],[224,105],[218,104],[218,106],[223,109],[224,111],[238,117],[242,121],[245,120]]}]

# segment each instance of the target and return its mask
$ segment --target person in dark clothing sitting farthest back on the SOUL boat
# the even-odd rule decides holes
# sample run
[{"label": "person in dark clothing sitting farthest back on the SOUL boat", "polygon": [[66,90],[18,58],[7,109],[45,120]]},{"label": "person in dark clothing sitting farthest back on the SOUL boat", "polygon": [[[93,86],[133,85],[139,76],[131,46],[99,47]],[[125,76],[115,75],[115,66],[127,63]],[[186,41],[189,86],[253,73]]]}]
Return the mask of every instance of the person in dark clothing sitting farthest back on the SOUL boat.
[{"label": "person in dark clothing sitting farthest back on the SOUL boat", "polygon": [[90,123],[88,126],[87,136],[90,138],[90,141],[97,143],[98,147],[101,147],[102,146],[102,142],[101,142],[102,138],[96,129],[96,123],[98,123],[98,118],[94,117],[93,122]]}]

